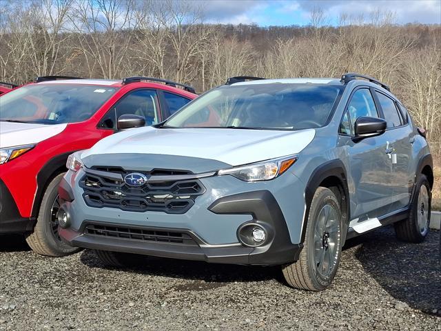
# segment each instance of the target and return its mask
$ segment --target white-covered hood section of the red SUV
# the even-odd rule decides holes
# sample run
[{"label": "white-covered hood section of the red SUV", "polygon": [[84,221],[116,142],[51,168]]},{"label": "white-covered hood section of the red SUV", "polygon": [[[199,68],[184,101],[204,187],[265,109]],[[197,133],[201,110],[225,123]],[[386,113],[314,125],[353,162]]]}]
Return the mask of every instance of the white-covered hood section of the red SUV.
[{"label": "white-covered hood section of the red SUV", "polygon": [[0,148],[33,145],[63,132],[66,126],[0,121]]}]

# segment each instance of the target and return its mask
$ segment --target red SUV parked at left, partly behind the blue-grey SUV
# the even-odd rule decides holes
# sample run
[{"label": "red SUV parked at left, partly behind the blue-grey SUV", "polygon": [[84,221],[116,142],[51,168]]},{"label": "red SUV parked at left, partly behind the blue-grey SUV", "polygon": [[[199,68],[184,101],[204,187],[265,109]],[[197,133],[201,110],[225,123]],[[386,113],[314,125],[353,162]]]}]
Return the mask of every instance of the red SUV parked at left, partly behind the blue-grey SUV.
[{"label": "red SUV parked at left, partly behind the blue-grey SUV", "polygon": [[196,97],[149,77],[39,77],[0,97],[0,234],[21,232],[39,254],[76,251],[58,234],[57,188],[68,156],[114,132],[160,123]]}]

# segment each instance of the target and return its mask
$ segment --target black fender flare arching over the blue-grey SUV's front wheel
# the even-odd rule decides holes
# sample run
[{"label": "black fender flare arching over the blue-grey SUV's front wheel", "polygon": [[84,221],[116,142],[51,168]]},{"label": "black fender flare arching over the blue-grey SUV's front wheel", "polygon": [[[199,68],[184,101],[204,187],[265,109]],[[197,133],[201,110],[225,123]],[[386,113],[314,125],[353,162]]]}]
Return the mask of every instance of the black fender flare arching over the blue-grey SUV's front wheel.
[{"label": "black fender flare arching over the blue-grey SUV's front wheel", "polygon": [[342,212],[346,213],[346,222],[342,224],[342,243],[345,243],[347,228],[349,226],[349,218],[351,216],[351,206],[349,201],[349,188],[347,185],[346,167],[345,164],[343,164],[343,162],[338,159],[322,163],[322,165],[318,166],[314,170],[314,172],[312,172],[311,177],[309,177],[309,181],[305,189],[305,215],[303,217],[302,237],[300,239],[300,243],[305,242],[309,207],[311,206],[312,198],[314,197],[316,190],[320,186],[320,183],[322,183],[323,181],[325,181],[325,179],[329,177],[336,177],[340,181],[343,190],[342,193],[344,193],[344,196],[342,195],[342,198],[345,197],[346,210],[342,210]]}]

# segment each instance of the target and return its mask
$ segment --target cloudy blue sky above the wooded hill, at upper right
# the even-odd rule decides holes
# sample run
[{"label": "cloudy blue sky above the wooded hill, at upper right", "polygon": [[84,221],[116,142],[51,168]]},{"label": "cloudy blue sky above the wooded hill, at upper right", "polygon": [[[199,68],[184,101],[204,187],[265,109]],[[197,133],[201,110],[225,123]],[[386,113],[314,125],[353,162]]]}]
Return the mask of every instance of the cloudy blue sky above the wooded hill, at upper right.
[{"label": "cloudy blue sky above the wooded hill, at upper right", "polygon": [[380,10],[393,12],[396,23],[441,24],[441,0],[199,0],[205,21],[256,23],[258,26],[307,25],[310,12],[321,8],[331,25],[341,13],[365,17]]}]

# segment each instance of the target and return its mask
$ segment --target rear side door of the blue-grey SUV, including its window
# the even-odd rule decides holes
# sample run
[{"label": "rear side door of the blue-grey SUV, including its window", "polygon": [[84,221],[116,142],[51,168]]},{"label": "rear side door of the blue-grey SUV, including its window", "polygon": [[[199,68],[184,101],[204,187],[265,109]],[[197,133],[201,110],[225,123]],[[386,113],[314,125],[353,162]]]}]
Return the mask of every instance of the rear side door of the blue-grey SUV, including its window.
[{"label": "rear side door of the blue-grey SUV, including its window", "polygon": [[407,114],[403,114],[395,99],[380,90],[375,90],[382,117],[387,121],[384,137],[389,143],[387,156],[391,162],[391,212],[409,204],[413,178],[409,174],[411,162],[411,143],[413,130],[409,125]]}]

